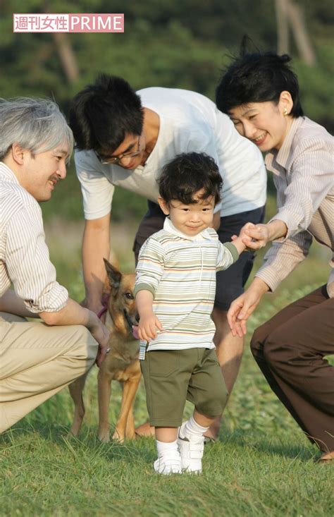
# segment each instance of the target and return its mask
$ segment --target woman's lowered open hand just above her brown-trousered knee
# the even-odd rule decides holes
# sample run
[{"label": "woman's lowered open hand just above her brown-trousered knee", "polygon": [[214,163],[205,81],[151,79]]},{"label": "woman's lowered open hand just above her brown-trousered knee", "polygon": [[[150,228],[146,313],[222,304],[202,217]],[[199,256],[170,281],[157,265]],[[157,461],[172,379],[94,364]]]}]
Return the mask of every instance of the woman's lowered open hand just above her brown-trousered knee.
[{"label": "woman's lowered open hand just above her brown-trousered knee", "polygon": [[228,310],[228,324],[233,336],[245,336],[247,333],[246,322],[268,289],[264,281],[255,278],[247,291],[231,303]]}]

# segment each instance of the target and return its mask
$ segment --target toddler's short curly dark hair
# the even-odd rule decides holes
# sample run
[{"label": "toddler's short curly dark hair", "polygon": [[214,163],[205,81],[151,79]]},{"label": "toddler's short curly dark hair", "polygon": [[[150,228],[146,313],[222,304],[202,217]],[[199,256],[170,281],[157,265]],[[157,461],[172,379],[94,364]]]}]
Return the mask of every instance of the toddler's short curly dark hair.
[{"label": "toddler's short curly dark hair", "polygon": [[204,152],[184,152],[166,164],[159,178],[159,193],[167,203],[178,200],[185,205],[196,203],[194,195],[204,190],[201,198],[214,196],[221,200],[223,179],[213,158]]}]

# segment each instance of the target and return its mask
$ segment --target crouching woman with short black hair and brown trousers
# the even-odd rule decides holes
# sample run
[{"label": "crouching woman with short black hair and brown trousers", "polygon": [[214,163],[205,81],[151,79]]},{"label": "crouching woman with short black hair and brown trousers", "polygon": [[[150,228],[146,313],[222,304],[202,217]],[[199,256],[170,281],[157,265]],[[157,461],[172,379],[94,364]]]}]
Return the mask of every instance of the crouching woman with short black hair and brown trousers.
[{"label": "crouching woman with short black hair and brown trousers", "polygon": [[[275,242],[252,284],[230,306],[230,327],[239,336],[261,296],[307,256],[312,236],[333,250],[334,139],[304,117],[289,61],[287,55],[245,54],[230,65],[216,92],[218,109],[267,153],[266,168],[277,189],[278,213],[248,231],[249,247]],[[321,461],[334,458],[334,368],[323,358],[334,353],[333,273],[327,286],[259,327],[251,343],[271,389],[318,444]]]}]

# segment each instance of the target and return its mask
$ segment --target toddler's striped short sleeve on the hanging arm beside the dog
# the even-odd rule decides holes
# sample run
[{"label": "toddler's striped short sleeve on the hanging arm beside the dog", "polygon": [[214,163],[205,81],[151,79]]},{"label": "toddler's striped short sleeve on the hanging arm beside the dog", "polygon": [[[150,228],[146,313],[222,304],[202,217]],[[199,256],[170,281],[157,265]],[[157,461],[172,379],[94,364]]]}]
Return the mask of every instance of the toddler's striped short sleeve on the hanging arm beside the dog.
[{"label": "toddler's striped short sleeve on the hanging arm beside the dog", "polygon": [[165,253],[159,241],[149,238],[142,245],[136,267],[135,295],[143,289],[155,295],[163,274]]}]

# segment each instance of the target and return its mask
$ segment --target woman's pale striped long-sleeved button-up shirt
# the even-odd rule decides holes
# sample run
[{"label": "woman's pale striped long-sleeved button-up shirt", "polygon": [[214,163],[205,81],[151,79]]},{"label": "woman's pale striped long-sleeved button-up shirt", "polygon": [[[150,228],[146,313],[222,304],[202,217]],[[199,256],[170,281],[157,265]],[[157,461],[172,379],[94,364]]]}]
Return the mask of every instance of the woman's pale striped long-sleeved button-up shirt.
[{"label": "woman's pale striped long-sleeved button-up shirt", "polygon": [[[256,273],[274,291],[307,257],[312,236],[334,251],[334,138],[309,118],[295,118],[282,147],[268,152],[265,163],[277,190],[273,219],[287,225],[287,236],[273,242]],[[333,259],[330,266],[327,291],[333,298]]]}]

